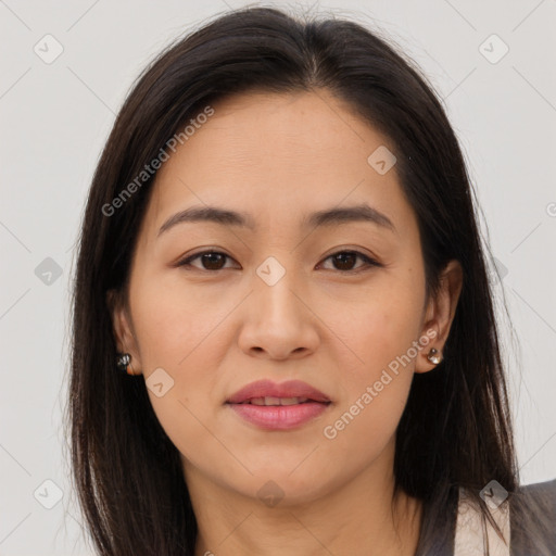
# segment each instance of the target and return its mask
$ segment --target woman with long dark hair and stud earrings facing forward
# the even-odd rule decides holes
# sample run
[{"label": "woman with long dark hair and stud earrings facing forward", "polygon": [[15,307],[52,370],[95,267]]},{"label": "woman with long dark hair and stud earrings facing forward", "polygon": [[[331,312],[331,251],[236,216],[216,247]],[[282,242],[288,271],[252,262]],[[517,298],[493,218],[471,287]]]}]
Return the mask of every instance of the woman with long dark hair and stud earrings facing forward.
[{"label": "woman with long dark hair and stud earrings facing forward", "polygon": [[99,161],[75,277],[99,554],[555,554],[471,191],[432,87],[355,23],[248,9],[163,52]]}]

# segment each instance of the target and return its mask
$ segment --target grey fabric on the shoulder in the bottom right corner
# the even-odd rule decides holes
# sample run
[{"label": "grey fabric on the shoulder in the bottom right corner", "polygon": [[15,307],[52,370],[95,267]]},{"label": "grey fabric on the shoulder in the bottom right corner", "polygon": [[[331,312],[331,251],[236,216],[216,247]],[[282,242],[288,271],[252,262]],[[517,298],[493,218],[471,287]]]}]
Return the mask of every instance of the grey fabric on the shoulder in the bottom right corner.
[{"label": "grey fabric on the shoulder in the bottom right corner", "polygon": [[539,554],[543,544],[556,554],[556,479],[519,486],[509,507],[511,556]]}]

